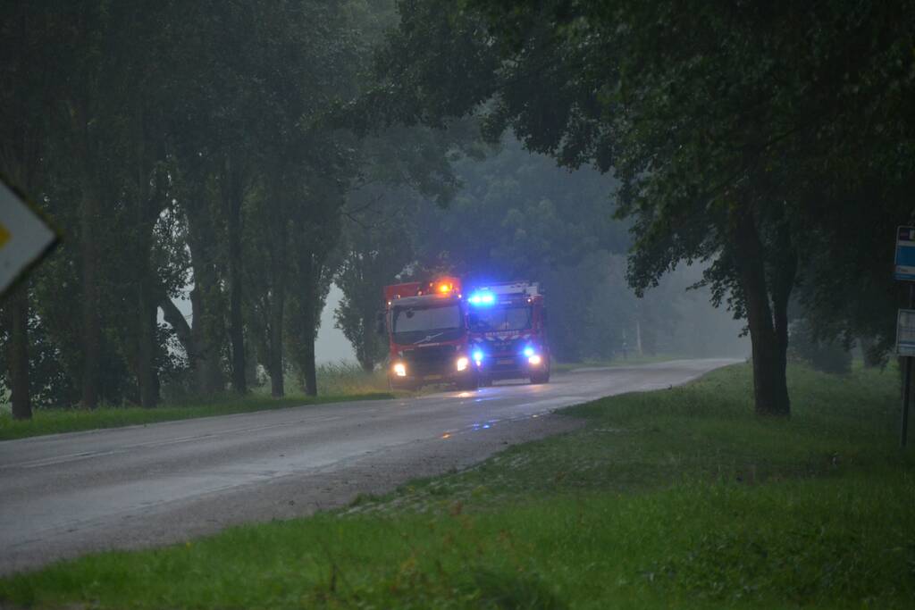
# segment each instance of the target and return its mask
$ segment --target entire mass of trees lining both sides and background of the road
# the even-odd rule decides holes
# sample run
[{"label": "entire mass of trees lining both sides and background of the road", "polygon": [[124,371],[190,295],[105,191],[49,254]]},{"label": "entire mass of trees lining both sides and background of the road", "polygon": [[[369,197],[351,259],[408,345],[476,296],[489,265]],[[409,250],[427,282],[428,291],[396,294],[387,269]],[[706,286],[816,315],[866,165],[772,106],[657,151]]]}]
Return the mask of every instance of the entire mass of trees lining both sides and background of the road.
[{"label": "entire mass of trees lining both sides and background of the road", "polygon": [[619,288],[631,245],[638,294],[702,263],[787,414],[790,303],[814,339],[892,336],[904,4],[7,3],[0,172],[64,234],[2,304],[14,412],[244,392],[257,364],[315,393],[329,284],[370,369],[380,285],[436,271],[543,279],[557,353],[606,357],[675,317]]}]

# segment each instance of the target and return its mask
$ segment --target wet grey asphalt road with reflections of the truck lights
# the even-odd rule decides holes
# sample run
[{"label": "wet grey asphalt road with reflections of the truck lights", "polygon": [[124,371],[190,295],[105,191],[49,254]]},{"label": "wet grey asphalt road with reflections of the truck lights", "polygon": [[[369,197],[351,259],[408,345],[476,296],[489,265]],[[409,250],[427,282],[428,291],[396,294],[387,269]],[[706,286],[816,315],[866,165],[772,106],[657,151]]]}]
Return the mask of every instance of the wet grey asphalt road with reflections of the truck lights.
[{"label": "wet grey asphalt road with reflections of the truck lights", "polygon": [[0,442],[0,574],[340,506],[578,424],[552,415],[557,408],[667,388],[733,362],[579,369],[547,385]]}]

